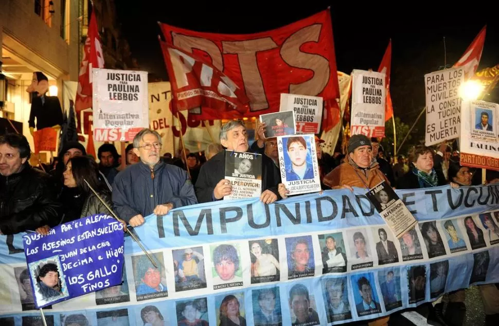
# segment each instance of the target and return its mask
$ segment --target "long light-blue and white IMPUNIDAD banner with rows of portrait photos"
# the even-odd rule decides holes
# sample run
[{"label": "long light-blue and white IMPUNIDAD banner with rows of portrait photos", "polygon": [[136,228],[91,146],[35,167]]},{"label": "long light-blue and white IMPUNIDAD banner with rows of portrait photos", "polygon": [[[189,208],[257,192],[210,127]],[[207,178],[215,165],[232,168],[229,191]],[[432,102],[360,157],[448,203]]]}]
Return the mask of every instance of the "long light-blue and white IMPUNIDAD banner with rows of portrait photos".
[{"label": "long light-blue and white IMPUNIDAD banner with rows of portrait photos", "polygon": [[[275,323],[326,325],[499,281],[499,186],[397,190],[418,220],[400,239],[364,192],[328,190],[270,205],[217,201],[146,216],[134,232],[157,267],[127,237],[123,283],[52,304],[46,319],[142,326],[142,316],[151,316],[219,325],[230,306],[240,323],[262,325],[264,299]],[[22,234],[0,236],[2,324],[39,316],[22,310],[30,286],[22,281],[22,245]]]}]

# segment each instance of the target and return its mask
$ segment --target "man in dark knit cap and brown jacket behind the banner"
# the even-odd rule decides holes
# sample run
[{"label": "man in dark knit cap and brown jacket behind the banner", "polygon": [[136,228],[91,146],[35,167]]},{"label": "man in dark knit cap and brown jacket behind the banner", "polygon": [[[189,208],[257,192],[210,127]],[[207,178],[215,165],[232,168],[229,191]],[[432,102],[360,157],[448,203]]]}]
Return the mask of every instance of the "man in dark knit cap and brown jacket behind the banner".
[{"label": "man in dark knit cap and brown jacket behind the banner", "polygon": [[[331,189],[352,187],[368,188],[388,179],[379,170],[376,158],[372,157],[371,141],[364,135],[353,135],[348,141],[347,161],[324,177],[324,184]],[[388,182],[389,183],[389,182]]]}]

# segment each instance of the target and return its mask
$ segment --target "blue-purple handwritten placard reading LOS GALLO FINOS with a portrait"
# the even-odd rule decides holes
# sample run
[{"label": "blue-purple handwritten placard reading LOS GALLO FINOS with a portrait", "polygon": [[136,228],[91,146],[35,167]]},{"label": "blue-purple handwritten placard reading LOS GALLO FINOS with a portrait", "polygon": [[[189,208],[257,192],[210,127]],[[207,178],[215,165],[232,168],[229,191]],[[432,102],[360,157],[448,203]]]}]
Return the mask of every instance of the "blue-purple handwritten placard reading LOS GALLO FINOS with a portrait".
[{"label": "blue-purple handwritten placard reading LOS GALLO FINOS with a portrait", "polygon": [[97,214],[23,237],[34,304],[42,308],[121,284],[123,225]]}]

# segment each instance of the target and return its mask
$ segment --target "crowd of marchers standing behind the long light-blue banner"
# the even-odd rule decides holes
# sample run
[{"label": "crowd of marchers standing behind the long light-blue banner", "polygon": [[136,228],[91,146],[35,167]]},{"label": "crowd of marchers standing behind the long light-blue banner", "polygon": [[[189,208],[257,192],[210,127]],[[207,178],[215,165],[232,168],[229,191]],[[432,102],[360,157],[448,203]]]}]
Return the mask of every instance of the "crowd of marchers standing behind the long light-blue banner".
[{"label": "crowd of marchers standing behind the long light-blue banner", "polygon": [[[229,121],[221,129],[220,143],[210,144],[204,153],[185,150],[184,156],[181,150],[173,156],[170,153],[161,155],[161,137],[156,131],[144,129],[121,157],[113,144],[103,144],[98,150],[98,163],[86,155],[81,143],[69,142],[52,162],[51,169],[45,167],[48,173],[29,165],[31,149],[26,137],[20,134],[0,136],[0,234],[24,231],[48,234],[50,228],[58,224],[92,214],[110,213],[106,205],[112,207],[123,223],[138,227],[150,214],[166,215],[177,207],[220,201],[232,191],[229,180],[225,178],[224,149],[262,154],[260,201],[274,203],[288,197],[289,191],[281,183],[277,140],[264,138],[264,130],[265,124],[259,124],[256,130],[258,138],[250,147],[244,122]],[[459,153],[452,152],[445,143],[436,151],[416,146],[407,158],[399,155],[394,164],[386,159],[376,138],[351,136],[346,155],[335,152],[331,156],[323,152],[323,142],[315,138],[324,190],[371,189],[380,182],[387,182],[396,189],[445,184],[458,188],[482,182],[480,173],[472,173],[468,167],[459,165]],[[121,168],[120,159],[126,160],[126,168]],[[497,181],[493,173],[487,177],[488,182]],[[91,187],[106,205],[91,191]],[[452,227],[446,226],[449,232]],[[429,226],[427,232],[423,232],[428,233],[430,240],[433,239],[432,230]],[[380,239],[383,232],[386,239],[383,229]],[[435,245],[441,245],[441,239]],[[269,255],[261,253],[258,246],[255,243],[251,248],[256,258],[255,276],[266,273],[258,267],[259,262],[272,261]],[[324,259],[327,263],[335,257]],[[483,292],[484,297],[493,295],[487,291]],[[449,294],[445,315],[440,300],[435,301],[429,321],[442,325],[462,324],[466,311],[464,299],[462,290]],[[486,311],[489,316],[497,316],[497,312]],[[385,324],[388,318],[374,320],[371,324]]]}]

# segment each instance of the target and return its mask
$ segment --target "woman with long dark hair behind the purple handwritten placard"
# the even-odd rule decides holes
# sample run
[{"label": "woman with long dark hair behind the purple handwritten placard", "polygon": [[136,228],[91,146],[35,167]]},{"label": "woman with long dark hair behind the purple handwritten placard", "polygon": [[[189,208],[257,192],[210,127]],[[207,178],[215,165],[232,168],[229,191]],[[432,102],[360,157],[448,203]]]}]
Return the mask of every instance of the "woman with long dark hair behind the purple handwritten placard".
[{"label": "woman with long dark hair behind the purple handwritten placard", "polygon": [[[63,172],[64,187],[59,195],[59,201],[63,205],[63,216],[61,223],[74,221],[94,214],[109,214],[99,198],[90,190],[84,180],[97,191],[102,200],[110,208],[112,207],[111,192],[99,179],[99,167],[96,162],[86,156],[75,156],[66,163]],[[48,226],[37,229],[40,234],[48,234]]]}]

